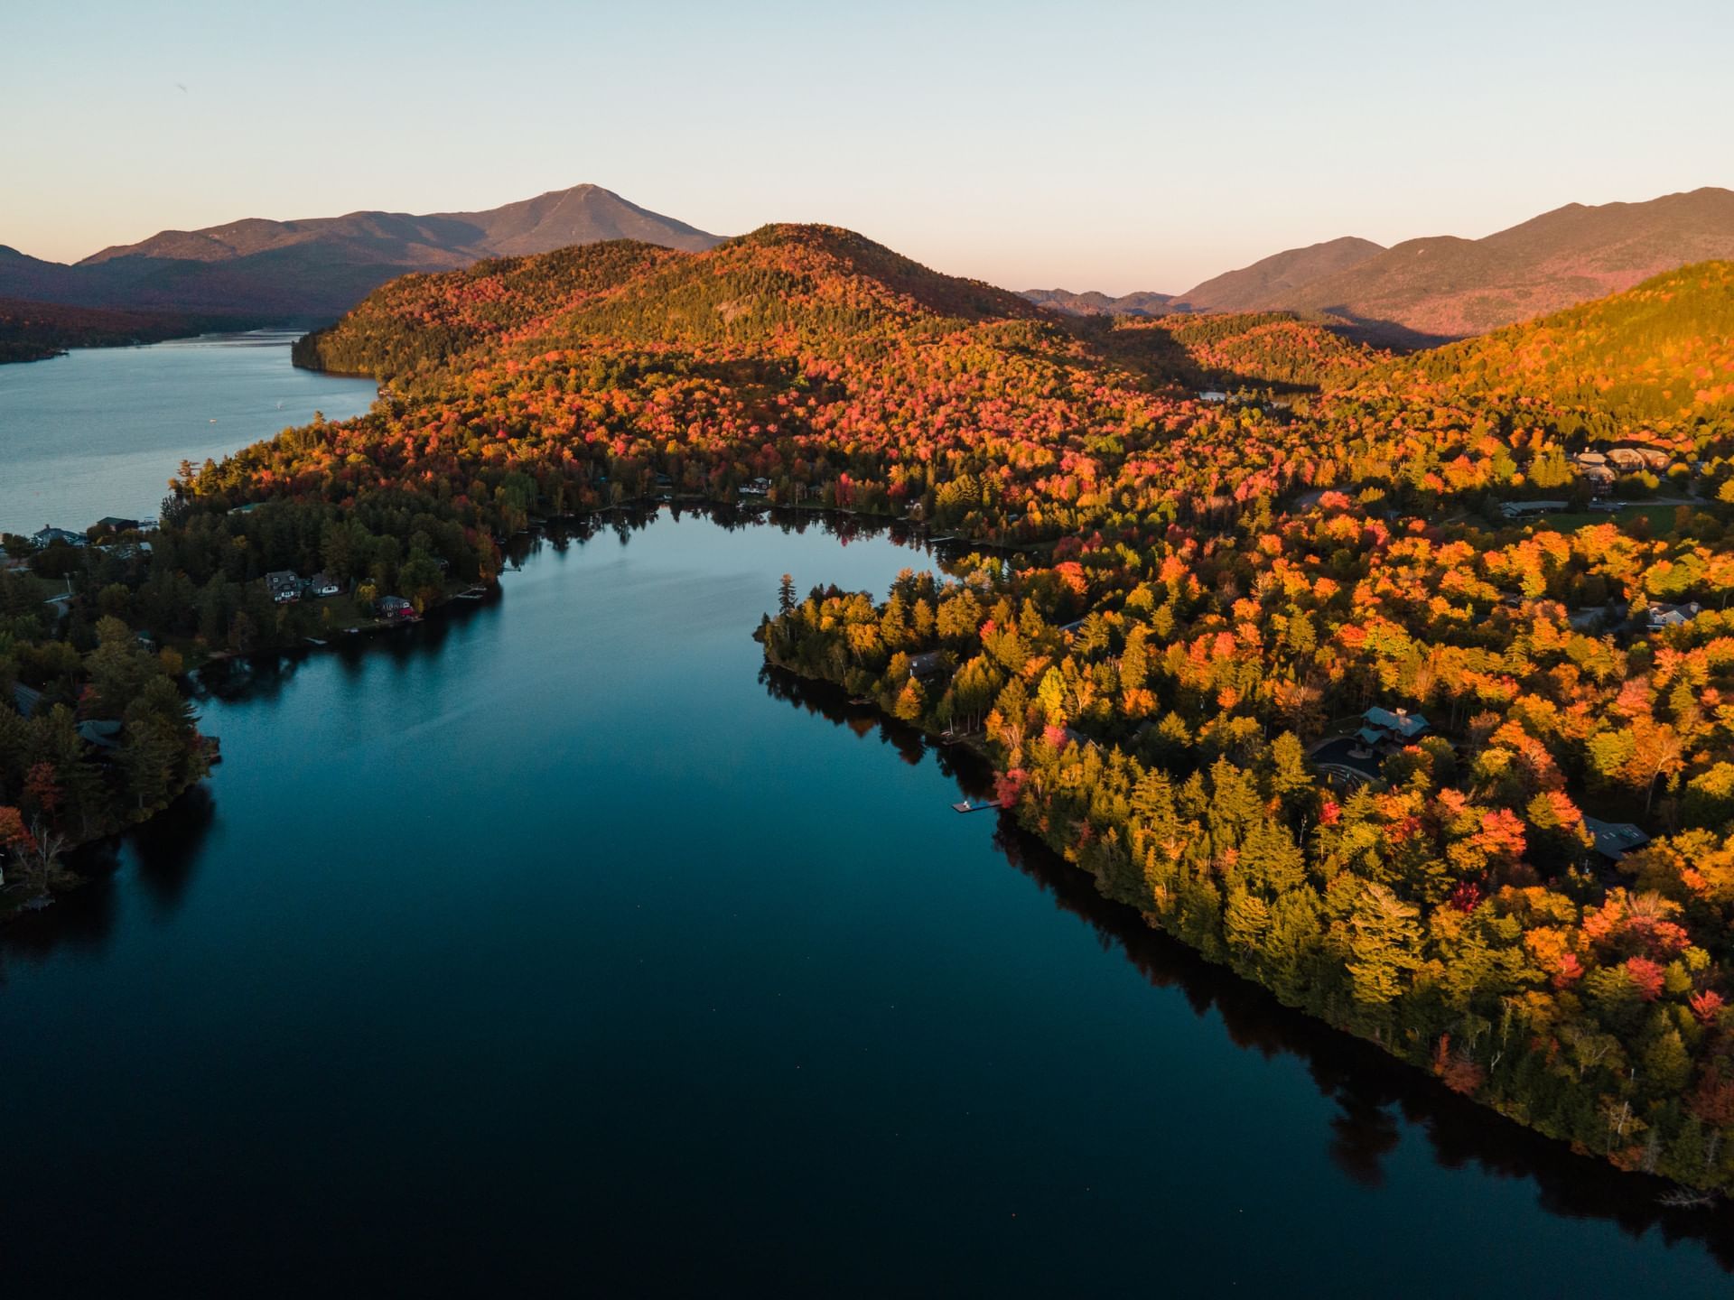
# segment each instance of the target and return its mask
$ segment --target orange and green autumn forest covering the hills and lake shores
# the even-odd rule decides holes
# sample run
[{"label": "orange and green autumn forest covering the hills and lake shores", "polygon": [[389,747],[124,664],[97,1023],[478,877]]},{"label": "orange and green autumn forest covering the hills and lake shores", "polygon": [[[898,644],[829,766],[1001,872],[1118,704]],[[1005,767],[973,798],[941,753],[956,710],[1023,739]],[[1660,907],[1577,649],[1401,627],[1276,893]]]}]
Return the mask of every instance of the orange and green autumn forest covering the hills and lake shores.
[{"label": "orange and green autumn forest covering the hills and lake shores", "polygon": [[[49,749],[116,705],[140,744],[142,692],[92,704],[116,647],[168,681],[662,494],[905,518],[976,553],[786,593],[773,664],[976,745],[1106,896],[1285,1002],[1727,1191],[1731,338],[1731,263],[1410,357],[1061,319],[829,227],[407,276],[297,350],[373,413],[186,466],[147,555],[9,543],[0,676],[50,707],[0,711],[0,818],[14,855],[64,827],[80,763],[137,803]],[[55,626],[16,595],[47,579]]]}]

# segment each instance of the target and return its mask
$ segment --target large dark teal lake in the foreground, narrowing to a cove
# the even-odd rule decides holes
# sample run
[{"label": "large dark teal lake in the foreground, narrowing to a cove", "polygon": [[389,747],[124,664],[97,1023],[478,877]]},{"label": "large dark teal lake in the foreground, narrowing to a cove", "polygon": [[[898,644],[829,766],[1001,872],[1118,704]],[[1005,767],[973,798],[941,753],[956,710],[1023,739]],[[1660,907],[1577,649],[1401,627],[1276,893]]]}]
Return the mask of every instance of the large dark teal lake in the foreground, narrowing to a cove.
[{"label": "large dark teal lake in the foreground, narrowing to a cove", "polygon": [[664,518],[205,700],[227,761],[0,943],[0,1288],[1727,1295],[1725,1219],[1103,905],[761,674]]}]

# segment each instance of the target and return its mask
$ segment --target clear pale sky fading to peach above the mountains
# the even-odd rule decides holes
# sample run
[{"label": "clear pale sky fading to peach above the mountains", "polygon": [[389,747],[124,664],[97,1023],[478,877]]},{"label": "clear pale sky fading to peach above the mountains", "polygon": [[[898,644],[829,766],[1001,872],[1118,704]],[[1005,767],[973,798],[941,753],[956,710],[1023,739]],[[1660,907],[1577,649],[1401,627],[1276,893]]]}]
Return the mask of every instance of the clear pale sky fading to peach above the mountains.
[{"label": "clear pale sky fading to peach above the mountains", "polygon": [[593,182],[1006,288],[1734,187],[1734,2],[9,5],[0,243]]}]

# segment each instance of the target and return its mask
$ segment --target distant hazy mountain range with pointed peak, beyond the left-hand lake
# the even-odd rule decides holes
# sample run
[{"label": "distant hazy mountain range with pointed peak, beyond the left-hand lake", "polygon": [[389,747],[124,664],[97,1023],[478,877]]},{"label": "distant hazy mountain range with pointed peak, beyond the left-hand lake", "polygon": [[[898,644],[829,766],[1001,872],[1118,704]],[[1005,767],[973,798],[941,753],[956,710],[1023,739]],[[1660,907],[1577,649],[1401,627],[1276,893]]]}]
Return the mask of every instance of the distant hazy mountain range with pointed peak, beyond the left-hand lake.
[{"label": "distant hazy mountain range with pointed peak, beyond the left-hand lake", "polygon": [[407,270],[451,270],[489,257],[546,253],[603,239],[701,251],[718,236],[574,185],[489,211],[427,217],[352,211],[293,222],[248,218],[163,231],[66,265],[0,244],[0,298],[180,312],[236,322],[331,319]]}]

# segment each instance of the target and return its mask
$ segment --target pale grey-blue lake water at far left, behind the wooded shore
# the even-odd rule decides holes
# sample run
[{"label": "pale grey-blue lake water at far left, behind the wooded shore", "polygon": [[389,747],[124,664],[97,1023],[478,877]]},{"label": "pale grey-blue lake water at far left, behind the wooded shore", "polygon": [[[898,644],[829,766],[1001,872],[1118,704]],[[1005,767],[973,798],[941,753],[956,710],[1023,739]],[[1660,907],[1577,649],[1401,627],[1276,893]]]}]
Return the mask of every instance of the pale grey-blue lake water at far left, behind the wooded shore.
[{"label": "pale grey-blue lake water at far left, behind the wooded shore", "polygon": [[151,518],[182,459],[373,406],[371,380],[290,366],[293,338],[206,335],[0,366],[0,532]]}]

